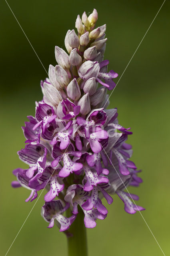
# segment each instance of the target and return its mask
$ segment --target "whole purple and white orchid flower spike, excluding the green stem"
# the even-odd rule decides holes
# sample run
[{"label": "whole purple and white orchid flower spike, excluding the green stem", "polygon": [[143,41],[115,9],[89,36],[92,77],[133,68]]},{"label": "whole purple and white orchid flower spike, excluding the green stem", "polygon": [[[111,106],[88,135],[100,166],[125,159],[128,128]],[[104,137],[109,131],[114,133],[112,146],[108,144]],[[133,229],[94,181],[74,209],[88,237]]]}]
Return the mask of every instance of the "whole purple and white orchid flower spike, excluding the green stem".
[{"label": "whole purple and white orchid flower spike, excluding the green stem", "polygon": [[[106,109],[107,90],[116,86],[118,74],[107,72],[106,24],[95,28],[97,19],[95,9],[88,17],[86,12],[82,19],[78,15],[78,34],[68,30],[64,41],[69,55],[55,47],[58,64],[49,66],[49,78],[41,82],[43,100],[22,127],[26,146],[18,155],[29,168],[13,171],[17,181],[12,186],[31,190],[26,202],[47,189],[42,216],[49,228],[54,220],[60,224],[60,231],[70,227],[80,208],[85,226],[94,228],[96,219],[108,214],[101,199],[112,204],[110,194],[117,194],[130,214],[144,210],[133,203],[138,196],[124,191],[142,180],[129,160],[130,128],[118,124],[116,108]],[[68,208],[72,215],[66,217]]]}]

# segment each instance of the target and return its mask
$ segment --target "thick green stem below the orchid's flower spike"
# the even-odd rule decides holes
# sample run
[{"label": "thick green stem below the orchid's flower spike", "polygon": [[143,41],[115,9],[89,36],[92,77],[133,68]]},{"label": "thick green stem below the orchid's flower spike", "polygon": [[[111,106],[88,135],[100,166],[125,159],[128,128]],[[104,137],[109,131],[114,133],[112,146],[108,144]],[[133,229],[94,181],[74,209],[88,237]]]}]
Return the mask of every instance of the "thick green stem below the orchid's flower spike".
[{"label": "thick green stem below the orchid's flower spike", "polygon": [[[67,216],[71,216],[70,209],[67,210]],[[77,217],[68,232],[72,234],[72,236],[67,237],[68,256],[88,256],[84,212],[81,208],[78,208]]]}]

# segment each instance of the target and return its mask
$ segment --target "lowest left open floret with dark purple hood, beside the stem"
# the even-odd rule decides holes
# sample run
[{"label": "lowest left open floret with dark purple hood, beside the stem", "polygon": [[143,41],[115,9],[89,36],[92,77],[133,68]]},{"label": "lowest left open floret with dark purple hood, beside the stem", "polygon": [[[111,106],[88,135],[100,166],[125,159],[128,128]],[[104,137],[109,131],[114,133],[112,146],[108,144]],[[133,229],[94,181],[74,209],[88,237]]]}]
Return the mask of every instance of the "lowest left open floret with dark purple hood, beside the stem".
[{"label": "lowest left open floret with dark purple hood, beside the stem", "polygon": [[50,222],[48,228],[52,228],[54,226],[54,220],[57,220],[61,225],[60,232],[65,231],[70,227],[70,225],[76,218],[76,215],[72,215],[70,218],[66,218],[65,216],[63,216],[62,213],[65,212],[68,207],[69,204],[66,204],[66,206],[64,206],[61,200],[46,202],[44,206],[42,206],[41,215],[44,220]]}]

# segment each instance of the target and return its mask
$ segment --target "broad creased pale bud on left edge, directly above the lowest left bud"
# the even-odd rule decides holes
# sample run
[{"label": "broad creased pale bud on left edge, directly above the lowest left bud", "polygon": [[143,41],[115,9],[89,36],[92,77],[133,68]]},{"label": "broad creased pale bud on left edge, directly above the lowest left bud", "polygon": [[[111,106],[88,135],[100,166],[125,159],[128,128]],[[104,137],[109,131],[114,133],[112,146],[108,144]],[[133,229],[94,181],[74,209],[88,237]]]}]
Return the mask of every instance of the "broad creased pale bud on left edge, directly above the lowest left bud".
[{"label": "broad creased pale bud on left edge, directly above the lowest left bud", "polygon": [[61,90],[64,85],[68,85],[67,72],[59,65],[55,67],[50,65],[48,70],[48,76],[50,83],[56,87],[57,90]]}]

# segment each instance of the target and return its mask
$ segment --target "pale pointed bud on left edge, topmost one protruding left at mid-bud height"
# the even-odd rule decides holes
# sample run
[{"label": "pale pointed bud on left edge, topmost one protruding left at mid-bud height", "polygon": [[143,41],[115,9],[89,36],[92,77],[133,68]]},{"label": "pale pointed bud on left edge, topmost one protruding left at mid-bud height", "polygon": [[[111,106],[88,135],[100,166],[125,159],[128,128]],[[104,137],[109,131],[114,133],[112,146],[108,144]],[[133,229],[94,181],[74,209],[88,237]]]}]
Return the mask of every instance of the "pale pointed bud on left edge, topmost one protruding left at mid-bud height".
[{"label": "pale pointed bud on left edge, topmost one protruding left at mid-bud height", "polygon": [[55,47],[55,56],[58,65],[62,66],[62,68],[70,68],[69,56],[62,48]]}]

